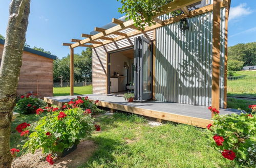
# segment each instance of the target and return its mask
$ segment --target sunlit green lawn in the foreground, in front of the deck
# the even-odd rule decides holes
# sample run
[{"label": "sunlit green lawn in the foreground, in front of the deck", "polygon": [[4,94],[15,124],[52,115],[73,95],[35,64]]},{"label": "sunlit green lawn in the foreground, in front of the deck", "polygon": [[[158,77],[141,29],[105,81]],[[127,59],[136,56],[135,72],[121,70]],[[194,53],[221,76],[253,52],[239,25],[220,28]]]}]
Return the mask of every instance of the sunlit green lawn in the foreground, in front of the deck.
[{"label": "sunlit green lawn in the foreground, in front of the deck", "polygon": [[[24,139],[14,133],[16,125],[36,119],[34,115],[17,118],[11,147]],[[80,167],[239,167],[209,146],[201,128],[174,123],[152,127],[142,117],[123,113],[95,120],[102,131],[95,131],[91,139],[98,148]]]}]

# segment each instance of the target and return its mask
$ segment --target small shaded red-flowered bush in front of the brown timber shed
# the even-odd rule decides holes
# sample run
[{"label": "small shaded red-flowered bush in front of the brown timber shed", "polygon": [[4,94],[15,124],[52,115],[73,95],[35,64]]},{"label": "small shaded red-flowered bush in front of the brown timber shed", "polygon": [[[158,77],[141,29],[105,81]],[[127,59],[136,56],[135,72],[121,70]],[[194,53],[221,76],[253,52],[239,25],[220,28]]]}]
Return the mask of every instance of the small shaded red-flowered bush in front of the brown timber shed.
[{"label": "small shaded red-flowered bush in front of the brown timber shed", "polygon": [[20,114],[35,113],[37,108],[46,106],[46,102],[36,98],[36,94],[28,93],[26,96],[22,95],[16,103],[16,110]]}]

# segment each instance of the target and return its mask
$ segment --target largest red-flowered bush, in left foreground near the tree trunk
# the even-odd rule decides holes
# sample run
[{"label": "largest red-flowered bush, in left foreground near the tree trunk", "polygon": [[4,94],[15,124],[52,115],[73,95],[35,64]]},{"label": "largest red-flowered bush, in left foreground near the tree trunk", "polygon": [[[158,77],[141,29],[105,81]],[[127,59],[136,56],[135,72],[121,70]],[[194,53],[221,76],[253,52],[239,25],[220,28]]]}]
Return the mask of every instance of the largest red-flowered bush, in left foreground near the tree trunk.
[{"label": "largest red-flowered bush, in left foreground near the tree trunk", "polygon": [[[38,111],[43,113],[44,110],[39,108]],[[29,127],[33,133],[29,135],[23,148],[28,147],[32,153],[36,149],[42,149],[42,153],[54,155],[78,144],[83,138],[89,138],[93,127],[91,115],[84,113],[81,108],[50,111],[34,126]]]}]

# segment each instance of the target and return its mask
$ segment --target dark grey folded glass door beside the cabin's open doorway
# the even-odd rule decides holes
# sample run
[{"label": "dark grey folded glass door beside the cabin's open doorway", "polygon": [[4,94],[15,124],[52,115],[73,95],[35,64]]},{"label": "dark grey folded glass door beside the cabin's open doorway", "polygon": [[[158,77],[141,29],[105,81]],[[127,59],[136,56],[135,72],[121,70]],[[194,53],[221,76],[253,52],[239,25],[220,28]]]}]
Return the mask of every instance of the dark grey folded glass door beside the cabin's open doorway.
[{"label": "dark grey folded glass door beside the cabin's open doorway", "polygon": [[135,99],[152,99],[152,43],[143,36],[135,38]]}]

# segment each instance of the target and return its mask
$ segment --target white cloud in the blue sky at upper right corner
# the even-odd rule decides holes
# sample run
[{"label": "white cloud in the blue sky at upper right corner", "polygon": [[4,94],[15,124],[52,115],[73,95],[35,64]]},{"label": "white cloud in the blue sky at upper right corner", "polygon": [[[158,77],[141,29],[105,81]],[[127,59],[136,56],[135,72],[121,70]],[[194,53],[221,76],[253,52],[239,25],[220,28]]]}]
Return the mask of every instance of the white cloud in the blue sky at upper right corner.
[{"label": "white cloud in the blue sky at upper right corner", "polygon": [[253,11],[250,8],[246,8],[246,5],[246,3],[243,3],[236,7],[231,7],[228,19],[238,20],[243,16],[251,14]]}]

